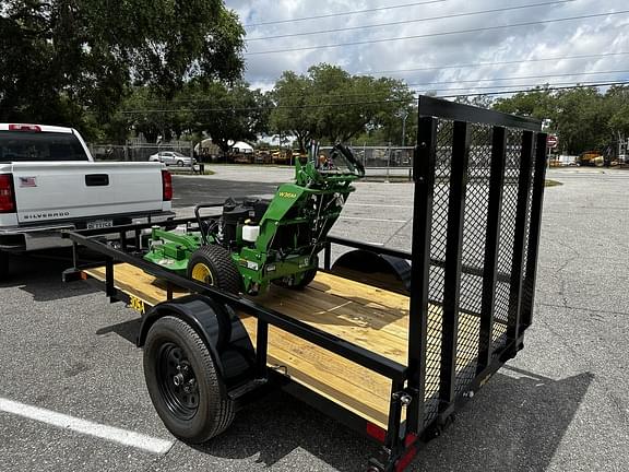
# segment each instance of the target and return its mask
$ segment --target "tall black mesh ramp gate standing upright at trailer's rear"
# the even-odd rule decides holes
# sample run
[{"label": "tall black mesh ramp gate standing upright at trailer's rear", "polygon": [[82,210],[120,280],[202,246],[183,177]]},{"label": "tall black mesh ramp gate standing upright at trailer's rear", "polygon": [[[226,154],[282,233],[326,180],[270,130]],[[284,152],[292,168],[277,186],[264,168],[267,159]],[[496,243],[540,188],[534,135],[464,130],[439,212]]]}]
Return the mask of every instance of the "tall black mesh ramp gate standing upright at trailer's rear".
[{"label": "tall black mesh ramp gate standing upright at trailer's rear", "polygon": [[[535,120],[419,98],[411,430],[443,422],[531,322],[545,134]],[[426,264],[426,261],[429,261]]]}]

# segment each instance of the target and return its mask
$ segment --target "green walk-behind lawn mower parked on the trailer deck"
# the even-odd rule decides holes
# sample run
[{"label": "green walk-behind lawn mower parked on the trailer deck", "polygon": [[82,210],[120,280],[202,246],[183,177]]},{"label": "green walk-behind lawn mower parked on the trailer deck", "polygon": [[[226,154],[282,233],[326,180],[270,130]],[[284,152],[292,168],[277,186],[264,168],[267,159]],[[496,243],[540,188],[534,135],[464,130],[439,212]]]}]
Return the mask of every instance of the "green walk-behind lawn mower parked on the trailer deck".
[{"label": "green walk-behind lawn mower parked on the trailer deck", "polygon": [[[306,164],[295,162],[295,182],[281,185],[272,200],[199,204],[197,227],[153,228],[144,258],[230,293],[264,293],[271,282],[302,288],[317,274],[318,253],[352,182],[364,176],[348,148],[337,144],[324,156],[313,144]],[[201,214],[216,206],[221,216]]]}]

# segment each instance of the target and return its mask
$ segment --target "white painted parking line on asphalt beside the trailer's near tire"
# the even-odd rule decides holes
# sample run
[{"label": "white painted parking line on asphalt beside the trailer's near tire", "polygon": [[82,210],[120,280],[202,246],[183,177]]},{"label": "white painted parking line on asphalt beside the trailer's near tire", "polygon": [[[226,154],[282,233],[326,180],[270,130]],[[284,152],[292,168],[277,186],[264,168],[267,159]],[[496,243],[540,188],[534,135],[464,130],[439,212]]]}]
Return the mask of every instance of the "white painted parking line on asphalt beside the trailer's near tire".
[{"label": "white painted parking line on asphalt beside the trailer's near tire", "polygon": [[111,442],[123,446],[131,446],[137,449],[143,449],[147,452],[164,455],[175,444],[174,441],[146,436],[140,433],[121,429],[114,426],[107,426],[93,423],[87,420],[81,420],[51,410],[32,406],[16,401],[0,398],[0,412],[11,413],[16,416],[35,420],[41,423],[57,426],[63,429],[95,436]]}]

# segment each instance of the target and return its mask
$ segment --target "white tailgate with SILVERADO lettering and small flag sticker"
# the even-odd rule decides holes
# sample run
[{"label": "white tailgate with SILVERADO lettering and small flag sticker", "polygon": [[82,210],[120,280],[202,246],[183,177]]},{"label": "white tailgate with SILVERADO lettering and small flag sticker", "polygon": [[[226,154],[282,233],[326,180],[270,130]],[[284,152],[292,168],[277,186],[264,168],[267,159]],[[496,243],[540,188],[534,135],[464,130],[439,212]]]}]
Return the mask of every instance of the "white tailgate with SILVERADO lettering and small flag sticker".
[{"label": "white tailgate with SILVERADO lettering and small flag sticker", "polygon": [[162,211],[161,169],[158,163],[14,163],[17,221]]}]

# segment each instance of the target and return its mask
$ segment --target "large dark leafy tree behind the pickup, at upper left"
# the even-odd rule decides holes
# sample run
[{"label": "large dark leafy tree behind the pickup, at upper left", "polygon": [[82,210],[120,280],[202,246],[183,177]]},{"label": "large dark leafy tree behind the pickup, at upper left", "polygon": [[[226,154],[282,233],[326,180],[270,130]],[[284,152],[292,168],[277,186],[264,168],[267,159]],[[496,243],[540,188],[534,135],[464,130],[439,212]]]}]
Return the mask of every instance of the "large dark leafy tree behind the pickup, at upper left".
[{"label": "large dark leafy tree behind the pickup, at upper left", "polygon": [[102,123],[131,84],[171,98],[191,78],[238,80],[242,47],[221,0],[5,0],[0,120]]}]

